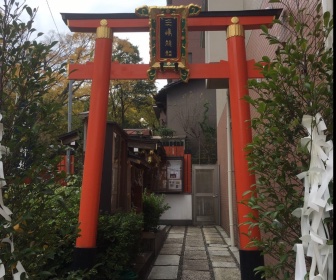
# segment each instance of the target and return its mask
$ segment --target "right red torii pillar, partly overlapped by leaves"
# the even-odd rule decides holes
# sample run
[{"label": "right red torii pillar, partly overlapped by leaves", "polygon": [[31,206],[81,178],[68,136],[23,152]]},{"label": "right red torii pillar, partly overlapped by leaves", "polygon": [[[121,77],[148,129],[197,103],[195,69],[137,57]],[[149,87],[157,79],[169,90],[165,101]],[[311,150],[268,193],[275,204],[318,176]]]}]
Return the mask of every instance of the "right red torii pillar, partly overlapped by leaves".
[{"label": "right red torii pillar, partly overlapped by leaves", "polygon": [[[239,19],[233,17],[232,24],[227,28],[227,46],[228,46],[228,63],[229,63],[229,90],[230,90],[230,106],[232,118],[232,143],[235,167],[236,194],[238,202],[238,222],[242,224],[247,222],[249,218],[246,216],[253,213],[257,216],[257,211],[240,203],[247,200],[249,196],[244,196],[244,192],[251,190],[251,186],[255,184],[255,176],[251,175],[248,170],[248,162],[246,159],[247,152],[245,147],[252,140],[252,131],[249,120],[250,106],[243,100],[248,94],[247,88],[247,63],[243,26],[238,24]],[[246,247],[250,242],[248,225],[239,226],[240,240],[240,268],[242,280],[260,279],[255,276],[253,269],[263,265],[263,257],[256,247]],[[252,229],[251,238],[260,239],[260,231],[258,227]],[[259,278],[258,278],[259,277]]]}]

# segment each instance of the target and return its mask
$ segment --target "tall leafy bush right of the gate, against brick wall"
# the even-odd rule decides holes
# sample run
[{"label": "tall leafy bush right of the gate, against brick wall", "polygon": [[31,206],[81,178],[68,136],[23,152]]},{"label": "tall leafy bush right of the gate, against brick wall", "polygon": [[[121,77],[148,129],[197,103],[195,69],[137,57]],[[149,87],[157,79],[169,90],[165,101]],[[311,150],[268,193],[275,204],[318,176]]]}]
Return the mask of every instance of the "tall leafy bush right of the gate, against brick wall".
[{"label": "tall leafy bush right of the gate, against brick wall", "polygon": [[297,9],[291,9],[291,1],[272,2],[286,8],[287,17],[275,25],[288,33],[281,41],[262,28],[277,50],[273,59],[264,56],[258,63],[264,79],[249,83],[255,96],[246,100],[258,116],[252,119],[255,136],[248,145],[250,170],[257,175],[256,194],[248,205],[259,211],[256,222],[249,225],[263,233],[262,240],[251,243],[273,259],[257,270],[263,277],[284,280],[293,279],[292,248],[301,236],[300,220],[292,215],[303,204],[302,182],[296,175],[310,164],[310,155],[300,144],[306,136],[302,117],[321,113],[328,126],[327,140],[332,139],[333,52],[325,39],[333,22],[329,13],[322,15],[321,4],[298,1]]}]

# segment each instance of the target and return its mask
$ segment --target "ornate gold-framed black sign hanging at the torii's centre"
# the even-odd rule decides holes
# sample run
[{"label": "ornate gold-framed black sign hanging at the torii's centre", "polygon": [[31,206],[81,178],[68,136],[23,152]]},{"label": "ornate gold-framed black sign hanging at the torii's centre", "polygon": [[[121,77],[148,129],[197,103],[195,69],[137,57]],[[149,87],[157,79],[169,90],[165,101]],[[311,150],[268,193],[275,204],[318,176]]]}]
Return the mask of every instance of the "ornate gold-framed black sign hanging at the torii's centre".
[{"label": "ornate gold-framed black sign hanging at the torii's centre", "polygon": [[149,17],[150,68],[148,79],[154,81],[157,71],[176,71],[182,81],[189,80],[187,17],[197,16],[201,7],[188,6],[148,7],[135,10],[136,15]]}]

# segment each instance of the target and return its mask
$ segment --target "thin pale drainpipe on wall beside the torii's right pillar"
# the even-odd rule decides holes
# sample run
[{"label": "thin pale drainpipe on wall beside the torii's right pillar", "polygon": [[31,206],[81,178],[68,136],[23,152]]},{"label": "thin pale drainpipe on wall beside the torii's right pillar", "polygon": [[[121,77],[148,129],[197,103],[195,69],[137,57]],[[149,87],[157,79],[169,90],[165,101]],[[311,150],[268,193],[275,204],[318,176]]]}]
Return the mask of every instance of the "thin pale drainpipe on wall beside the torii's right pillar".
[{"label": "thin pale drainpipe on wall beside the torii's right pillar", "polygon": [[234,229],[233,229],[233,207],[232,207],[232,145],[231,145],[231,118],[229,94],[226,94],[226,137],[227,137],[227,165],[228,165],[228,200],[229,200],[229,224],[231,246],[235,246]]}]

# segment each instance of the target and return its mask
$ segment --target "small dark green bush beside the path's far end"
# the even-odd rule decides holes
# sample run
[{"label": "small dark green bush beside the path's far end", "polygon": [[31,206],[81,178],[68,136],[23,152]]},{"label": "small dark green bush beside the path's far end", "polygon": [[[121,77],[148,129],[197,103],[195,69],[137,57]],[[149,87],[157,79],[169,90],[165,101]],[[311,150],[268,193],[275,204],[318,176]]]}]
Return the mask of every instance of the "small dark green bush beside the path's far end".
[{"label": "small dark green bush beside the path's far end", "polygon": [[163,195],[148,193],[145,189],[142,195],[144,231],[156,232],[161,215],[167,211],[170,206],[164,203]]}]

